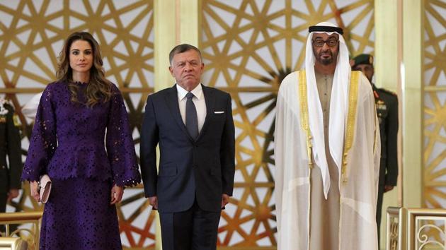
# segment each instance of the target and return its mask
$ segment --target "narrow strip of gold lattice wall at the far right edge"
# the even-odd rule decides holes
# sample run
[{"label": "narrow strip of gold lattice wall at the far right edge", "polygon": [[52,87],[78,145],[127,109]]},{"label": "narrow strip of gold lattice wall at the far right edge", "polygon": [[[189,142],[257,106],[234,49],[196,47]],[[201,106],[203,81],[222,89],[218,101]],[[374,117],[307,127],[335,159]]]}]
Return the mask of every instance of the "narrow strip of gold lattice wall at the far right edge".
[{"label": "narrow strip of gold lattice wall at the far right edge", "polygon": [[423,206],[446,208],[446,1],[423,7]]}]

